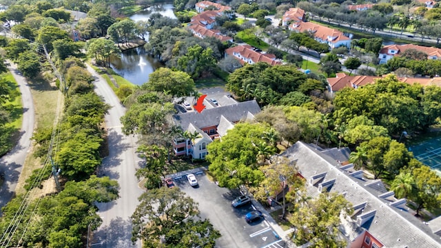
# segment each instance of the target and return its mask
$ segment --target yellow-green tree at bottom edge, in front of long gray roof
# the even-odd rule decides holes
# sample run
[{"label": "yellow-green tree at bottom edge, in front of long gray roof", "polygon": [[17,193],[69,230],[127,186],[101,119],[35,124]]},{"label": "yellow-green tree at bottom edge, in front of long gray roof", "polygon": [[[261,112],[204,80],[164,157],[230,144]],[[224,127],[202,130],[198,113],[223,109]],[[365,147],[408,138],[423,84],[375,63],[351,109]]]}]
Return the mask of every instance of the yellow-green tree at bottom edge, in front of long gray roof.
[{"label": "yellow-green tree at bottom edge, in front of long gray roof", "polygon": [[310,247],[345,247],[338,226],[340,214],[352,213],[351,203],[340,194],[319,194],[317,198],[296,205],[289,222],[296,227],[294,242]]}]

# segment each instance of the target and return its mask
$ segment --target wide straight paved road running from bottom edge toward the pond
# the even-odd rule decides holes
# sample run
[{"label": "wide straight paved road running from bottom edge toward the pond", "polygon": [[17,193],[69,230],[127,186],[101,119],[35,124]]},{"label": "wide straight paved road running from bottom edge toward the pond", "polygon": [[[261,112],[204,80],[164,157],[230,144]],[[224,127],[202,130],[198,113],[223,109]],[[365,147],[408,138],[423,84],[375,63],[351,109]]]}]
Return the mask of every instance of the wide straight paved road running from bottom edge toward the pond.
[{"label": "wide straight paved road running from bottom edge toward the pond", "polygon": [[125,114],[125,107],[119,103],[106,81],[88,65],[88,70],[95,77],[95,91],[105,103],[112,106],[105,116],[107,127],[109,156],[103,160],[100,173],[118,180],[120,198],[112,203],[99,203],[99,216],[103,224],[94,233],[93,247],[141,247],[138,242],[132,245],[132,223],[130,216],[139,204],[138,197],[142,190],[138,187],[135,169],[141,163],[136,156],[136,136],[125,136],[121,132],[120,118]]}]

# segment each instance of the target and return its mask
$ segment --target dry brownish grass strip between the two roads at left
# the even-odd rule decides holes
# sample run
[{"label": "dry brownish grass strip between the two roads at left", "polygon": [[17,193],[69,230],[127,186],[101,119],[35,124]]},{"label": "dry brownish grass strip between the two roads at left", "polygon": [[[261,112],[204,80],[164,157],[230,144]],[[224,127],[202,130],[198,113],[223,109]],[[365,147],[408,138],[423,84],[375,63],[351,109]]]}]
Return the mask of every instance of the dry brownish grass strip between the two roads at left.
[{"label": "dry brownish grass strip between the two roads at left", "polygon": [[[54,125],[55,111],[57,110],[57,100],[62,94],[56,87],[53,87],[43,79],[34,79],[29,82],[32,98],[35,107],[35,127],[36,129],[52,128]],[[63,97],[63,96],[61,96]],[[63,105],[63,101],[61,105]],[[33,156],[35,144],[32,144],[30,152],[25,160],[25,165],[21,171],[19,182],[17,183],[17,194],[25,193],[23,185],[34,169],[41,167],[41,158]]]}]

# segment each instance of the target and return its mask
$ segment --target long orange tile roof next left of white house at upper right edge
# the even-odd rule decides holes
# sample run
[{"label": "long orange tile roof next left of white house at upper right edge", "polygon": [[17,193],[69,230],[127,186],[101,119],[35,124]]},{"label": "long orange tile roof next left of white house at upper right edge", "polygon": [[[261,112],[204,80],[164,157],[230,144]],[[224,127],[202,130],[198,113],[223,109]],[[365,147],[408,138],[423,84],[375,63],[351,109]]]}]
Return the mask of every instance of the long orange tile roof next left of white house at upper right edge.
[{"label": "long orange tile roof next left of white house at upper right edge", "polygon": [[316,23],[311,22],[299,22],[296,23],[296,25],[291,24],[289,25],[290,28],[297,30],[298,32],[312,32],[314,34],[314,37],[321,39],[322,41],[330,41],[328,38],[332,37],[331,43],[336,43],[338,41],[347,41],[350,40],[349,37],[346,37],[345,34],[342,32],[335,30],[333,28],[325,27],[324,25],[318,25]]}]

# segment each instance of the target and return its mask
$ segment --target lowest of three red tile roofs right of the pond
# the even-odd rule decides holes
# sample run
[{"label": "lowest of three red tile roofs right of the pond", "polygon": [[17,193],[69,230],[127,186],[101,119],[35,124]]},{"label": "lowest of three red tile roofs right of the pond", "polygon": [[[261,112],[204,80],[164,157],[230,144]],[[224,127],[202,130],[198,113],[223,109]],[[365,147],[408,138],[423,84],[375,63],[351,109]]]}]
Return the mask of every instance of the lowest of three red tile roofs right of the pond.
[{"label": "lowest of three red tile roofs right of the pond", "polygon": [[238,45],[233,48],[228,48],[225,52],[229,56],[234,56],[236,59],[240,61],[242,65],[246,63],[243,59],[238,58],[234,54],[240,54],[241,57],[245,59],[251,59],[254,63],[265,62],[269,65],[281,65],[282,62],[276,60],[276,56],[274,54],[260,53],[253,50],[251,45]]}]

